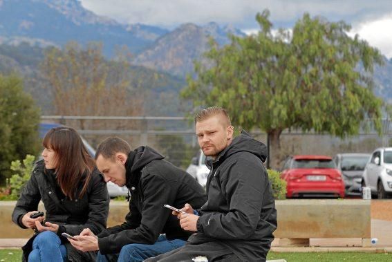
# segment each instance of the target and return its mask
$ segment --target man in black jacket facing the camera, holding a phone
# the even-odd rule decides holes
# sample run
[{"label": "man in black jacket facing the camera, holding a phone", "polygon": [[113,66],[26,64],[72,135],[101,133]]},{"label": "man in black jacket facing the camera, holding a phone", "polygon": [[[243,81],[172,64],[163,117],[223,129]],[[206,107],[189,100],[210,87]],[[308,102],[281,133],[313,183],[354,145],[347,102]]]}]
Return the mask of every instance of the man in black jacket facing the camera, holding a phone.
[{"label": "man in black jacket facing the camera, holding a phone", "polygon": [[[207,202],[177,214],[183,229],[196,232],[187,245],[147,261],[265,261],[277,228],[272,187],[263,166],[265,145],[244,131],[233,140],[226,111],[203,109],[195,117],[198,144],[207,166]],[[197,207],[194,207],[197,209]]]}]

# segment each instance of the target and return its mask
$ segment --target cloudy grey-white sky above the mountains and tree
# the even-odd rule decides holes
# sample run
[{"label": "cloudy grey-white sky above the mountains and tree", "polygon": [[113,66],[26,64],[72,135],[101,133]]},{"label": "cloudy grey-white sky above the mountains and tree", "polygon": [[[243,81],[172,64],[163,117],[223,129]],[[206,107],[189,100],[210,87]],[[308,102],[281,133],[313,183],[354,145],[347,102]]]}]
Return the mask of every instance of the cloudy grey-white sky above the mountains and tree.
[{"label": "cloudy grey-white sky above the mountains and tree", "polygon": [[268,8],[274,28],[291,28],[304,12],[330,21],[344,20],[357,33],[392,57],[391,0],[81,0],[84,8],[123,24],[147,24],[173,29],[191,22],[214,21],[254,32],[257,12]]}]

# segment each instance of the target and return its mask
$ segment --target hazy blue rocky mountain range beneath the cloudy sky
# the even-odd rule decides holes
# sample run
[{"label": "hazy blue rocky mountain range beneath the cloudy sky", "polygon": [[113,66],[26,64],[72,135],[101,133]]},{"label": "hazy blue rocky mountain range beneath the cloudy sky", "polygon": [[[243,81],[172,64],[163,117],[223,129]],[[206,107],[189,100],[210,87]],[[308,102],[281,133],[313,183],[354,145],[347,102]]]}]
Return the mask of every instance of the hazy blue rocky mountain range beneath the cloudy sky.
[{"label": "hazy blue rocky mountain range beneath the cloudy sky", "polygon": [[[0,0],[0,73],[17,68],[15,71],[28,75],[28,79],[39,79],[36,68],[43,58],[43,48],[62,47],[71,40],[82,45],[100,41],[108,58],[115,55],[116,48],[127,46],[134,68],[147,75],[164,72],[167,83],[175,83],[172,91],[178,93],[179,86],[185,84],[185,75],[193,72],[194,59],[201,59],[209,48],[209,38],[222,46],[230,42],[228,34],[245,35],[230,25],[214,22],[203,26],[182,24],[174,30],[120,24],[86,10],[78,0]],[[374,79],[375,94],[391,103],[392,59],[385,58],[385,66],[375,68]],[[39,86],[39,80],[34,81]],[[32,89],[28,91],[41,97],[39,88]]]}]

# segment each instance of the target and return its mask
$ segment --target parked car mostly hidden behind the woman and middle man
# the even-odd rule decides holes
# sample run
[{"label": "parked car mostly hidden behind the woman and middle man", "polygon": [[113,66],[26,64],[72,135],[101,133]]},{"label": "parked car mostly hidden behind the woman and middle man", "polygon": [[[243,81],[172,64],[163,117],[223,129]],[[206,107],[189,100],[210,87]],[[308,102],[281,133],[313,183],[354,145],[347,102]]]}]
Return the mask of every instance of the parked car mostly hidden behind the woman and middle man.
[{"label": "parked car mostly hidden behind the woman and middle man", "polygon": [[[44,138],[46,132],[49,131],[49,129],[53,129],[55,127],[61,127],[61,124],[57,123],[40,123],[39,124],[39,137],[41,139]],[[86,147],[88,153],[90,156],[94,158],[95,156],[95,149],[91,146],[91,144],[88,144],[88,142],[82,137],[83,144]],[[106,186],[108,187],[109,191],[109,196],[111,198],[115,198],[116,196],[128,196],[128,189],[127,187],[119,187],[118,185],[115,185],[113,182],[108,182],[106,183]]]}]

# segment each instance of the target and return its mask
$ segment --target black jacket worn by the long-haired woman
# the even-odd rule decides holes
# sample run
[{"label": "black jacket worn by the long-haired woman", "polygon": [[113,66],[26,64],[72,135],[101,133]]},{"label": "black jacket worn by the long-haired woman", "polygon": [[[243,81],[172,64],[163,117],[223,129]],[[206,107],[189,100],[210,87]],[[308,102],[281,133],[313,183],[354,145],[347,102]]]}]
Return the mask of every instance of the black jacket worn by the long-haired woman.
[{"label": "black jacket worn by the long-haired woman", "polygon": [[[26,228],[21,223],[21,218],[27,212],[37,210],[39,201],[42,200],[46,209],[46,221],[60,225],[57,235],[66,244],[68,260],[77,261],[83,255],[82,252],[73,248],[61,234],[66,232],[72,236],[78,235],[84,228],[89,228],[94,234],[104,230],[109,214],[109,194],[104,178],[97,169],[91,174],[88,188],[81,199],[70,200],[64,195],[64,198],[59,198],[58,187],[53,170],[45,169],[44,160],[37,162],[30,180],[21,191],[12,213],[12,221],[19,227]],[[28,255],[29,249],[28,246],[24,248],[24,255]]]}]

